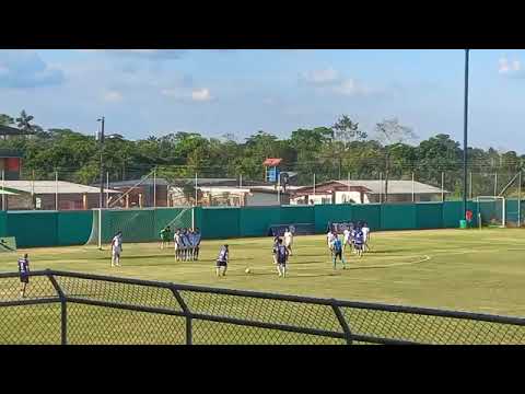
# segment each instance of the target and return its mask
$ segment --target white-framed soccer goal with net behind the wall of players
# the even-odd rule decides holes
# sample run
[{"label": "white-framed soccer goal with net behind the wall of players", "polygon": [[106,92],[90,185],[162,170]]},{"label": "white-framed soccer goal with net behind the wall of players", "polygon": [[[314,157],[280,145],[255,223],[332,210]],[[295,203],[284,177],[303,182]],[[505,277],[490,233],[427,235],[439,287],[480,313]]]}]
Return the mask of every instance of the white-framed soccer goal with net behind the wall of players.
[{"label": "white-framed soccer goal with net behind the wall of players", "polygon": [[165,227],[194,228],[194,208],[93,209],[86,245],[109,243],[121,231],[124,242],[153,242]]}]

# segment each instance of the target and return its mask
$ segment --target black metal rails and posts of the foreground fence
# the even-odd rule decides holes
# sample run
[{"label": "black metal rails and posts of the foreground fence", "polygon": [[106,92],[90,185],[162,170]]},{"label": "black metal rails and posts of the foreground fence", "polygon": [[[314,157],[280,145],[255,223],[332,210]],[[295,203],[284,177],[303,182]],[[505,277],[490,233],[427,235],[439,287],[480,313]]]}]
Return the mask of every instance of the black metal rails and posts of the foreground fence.
[{"label": "black metal rails and posts of the foreground fence", "polygon": [[[49,296],[42,296],[42,298],[31,298],[31,299],[8,299],[5,301],[1,301],[0,297],[0,308],[2,306],[24,306],[24,305],[38,305],[38,304],[49,304],[49,303],[62,303],[62,312],[61,312],[61,333],[62,333],[62,344],[67,344],[67,336],[68,336],[68,312],[67,304],[85,304],[85,305],[93,305],[93,306],[101,306],[101,308],[109,308],[109,309],[118,309],[118,310],[127,310],[133,312],[144,312],[144,313],[152,313],[152,314],[163,314],[163,315],[172,315],[177,317],[184,317],[186,320],[186,328],[185,328],[185,337],[186,344],[191,344],[194,340],[194,328],[192,328],[192,321],[207,321],[207,322],[215,322],[222,324],[232,324],[236,326],[246,326],[246,327],[254,327],[254,328],[262,328],[262,329],[272,329],[279,332],[289,332],[289,333],[296,333],[296,334],[304,334],[304,335],[313,335],[318,337],[326,337],[326,338],[335,338],[341,339],[346,344],[353,344],[353,343],[368,343],[368,344],[384,344],[384,345],[415,345],[418,344],[417,341],[406,340],[406,339],[398,339],[396,338],[396,334],[393,333],[393,337],[384,337],[384,334],[374,336],[360,334],[359,328],[352,328],[352,315],[348,313],[349,309],[353,310],[366,310],[370,312],[378,311],[378,312],[392,312],[398,314],[407,314],[407,315],[419,315],[419,316],[436,316],[436,317],[445,317],[445,318],[454,318],[454,320],[467,320],[471,322],[488,322],[488,323],[497,323],[502,325],[514,325],[514,326],[525,326],[525,318],[523,317],[513,317],[513,316],[501,316],[501,315],[490,315],[490,314],[482,314],[482,313],[471,313],[471,312],[458,312],[458,311],[447,311],[447,310],[440,310],[440,309],[430,309],[430,308],[417,308],[417,306],[402,306],[402,305],[389,305],[389,304],[381,304],[381,303],[371,303],[371,302],[357,302],[357,301],[342,301],[336,299],[323,299],[323,298],[312,298],[312,297],[302,297],[302,296],[289,296],[289,294],[276,294],[276,293],[266,293],[266,292],[257,292],[257,291],[247,291],[247,290],[234,290],[234,289],[220,289],[213,287],[202,287],[202,286],[192,286],[192,285],[179,285],[179,283],[171,283],[171,282],[161,282],[161,281],[152,281],[152,280],[141,280],[141,279],[132,279],[132,278],[117,278],[117,277],[109,277],[109,276],[102,276],[102,275],[92,275],[92,274],[83,274],[83,273],[69,273],[69,271],[61,271],[61,270],[37,270],[30,273],[32,277],[47,277],[52,288],[56,292],[56,297]],[[4,278],[18,278],[18,273],[2,273],[0,274],[0,279]],[[101,282],[110,282],[110,283],[121,283],[121,285],[130,285],[130,286],[138,286],[138,287],[149,287],[149,288],[156,288],[156,289],[168,289],[171,290],[171,296],[173,297],[173,301],[176,302],[174,308],[167,306],[148,306],[143,304],[137,304],[135,300],[131,298],[130,300],[122,300],[119,301],[109,301],[104,299],[90,299],[84,298],[88,293],[79,296],[79,294],[71,294],[66,291],[65,288],[60,286],[60,278],[77,278],[77,279],[84,279],[91,280],[94,282],[95,289],[101,286]],[[129,290],[129,289],[128,289]],[[52,290],[51,290],[52,291]],[[282,301],[282,302],[293,302],[293,303],[301,303],[305,305],[324,305],[330,306],[331,314],[327,315],[328,318],[334,317],[339,323],[340,331],[331,331],[331,329],[323,329],[323,327],[311,327],[302,325],[298,323],[298,325],[293,325],[290,323],[278,323],[278,322],[264,322],[253,318],[243,318],[237,316],[230,316],[230,315],[218,315],[218,314],[208,314],[208,313],[200,313],[191,310],[191,304],[188,303],[185,298],[186,296],[190,296],[191,293],[207,293],[213,296],[233,296],[246,300],[275,300],[275,301]],[[104,293],[101,293],[104,297]],[[133,294],[131,293],[131,297]],[[189,300],[189,299],[188,299]],[[138,300],[138,302],[141,302]],[[213,302],[210,300],[209,302]],[[177,309],[178,308],[178,309]],[[73,312],[74,313],[74,312]],[[331,316],[331,317],[329,317]],[[373,314],[370,316],[371,323],[374,322]],[[353,322],[355,323],[355,322]],[[220,328],[218,328],[220,329]],[[508,328],[504,328],[505,331]],[[439,335],[439,332],[435,333]],[[494,334],[495,335],[495,334]],[[505,336],[502,333],[503,338]],[[525,340],[525,334],[518,334],[521,336],[514,336],[512,339],[520,343]],[[477,339],[477,338],[474,338]],[[493,340],[492,340],[493,339]],[[500,337],[489,337],[488,341],[506,341],[506,339],[501,339]],[[470,341],[468,341],[470,343]]]}]

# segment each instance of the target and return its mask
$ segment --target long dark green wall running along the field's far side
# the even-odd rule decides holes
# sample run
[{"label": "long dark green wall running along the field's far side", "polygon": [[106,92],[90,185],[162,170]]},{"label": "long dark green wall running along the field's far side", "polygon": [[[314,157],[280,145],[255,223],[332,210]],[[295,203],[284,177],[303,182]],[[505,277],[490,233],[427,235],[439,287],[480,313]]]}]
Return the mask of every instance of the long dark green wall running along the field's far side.
[{"label": "long dark green wall running along the field's far side", "polygon": [[[478,207],[483,223],[501,217],[501,201],[468,201],[472,227],[478,225]],[[191,211],[194,213],[191,213]],[[524,204],[521,204],[524,221]],[[0,236],[15,236],[19,247],[82,245],[97,240],[98,211],[0,211]],[[117,231],[125,242],[153,242],[162,228],[200,228],[203,239],[266,236],[270,225],[310,223],[324,233],[329,222],[365,221],[373,231],[458,228],[463,219],[462,201],[418,204],[316,205],[283,207],[210,207],[104,210],[102,241],[107,243]],[[509,225],[518,221],[518,201],[505,200]]]}]

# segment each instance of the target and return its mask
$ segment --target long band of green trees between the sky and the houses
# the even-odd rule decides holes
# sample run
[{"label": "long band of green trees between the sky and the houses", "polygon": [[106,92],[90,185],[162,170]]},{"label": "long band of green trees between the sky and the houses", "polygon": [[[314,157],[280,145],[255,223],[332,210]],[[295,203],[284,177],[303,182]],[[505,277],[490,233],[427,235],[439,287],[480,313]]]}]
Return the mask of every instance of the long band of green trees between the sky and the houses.
[{"label": "long band of green trees between the sky and the houses", "polygon": [[[0,115],[0,125],[16,127],[30,137],[0,140],[0,149],[23,153],[23,178],[60,178],[82,184],[100,182],[101,146],[95,136],[71,129],[44,129],[25,111],[19,117]],[[447,134],[436,134],[419,142],[416,132],[397,118],[384,119],[369,136],[348,115],[331,126],[293,130],[278,138],[259,130],[243,141],[234,135],[207,138],[198,132],[177,131],[129,140],[110,135],[104,143],[104,164],[112,181],[139,178],[156,169],[158,176],[240,177],[262,181],[262,162],[282,158],[283,171],[298,173],[296,183],[312,184],[329,179],[410,179],[441,186],[459,194],[463,185],[463,150]],[[469,148],[469,172],[475,195],[491,192],[494,173],[500,187],[522,167],[525,155],[515,151]],[[492,194],[492,192],[490,193]]]}]

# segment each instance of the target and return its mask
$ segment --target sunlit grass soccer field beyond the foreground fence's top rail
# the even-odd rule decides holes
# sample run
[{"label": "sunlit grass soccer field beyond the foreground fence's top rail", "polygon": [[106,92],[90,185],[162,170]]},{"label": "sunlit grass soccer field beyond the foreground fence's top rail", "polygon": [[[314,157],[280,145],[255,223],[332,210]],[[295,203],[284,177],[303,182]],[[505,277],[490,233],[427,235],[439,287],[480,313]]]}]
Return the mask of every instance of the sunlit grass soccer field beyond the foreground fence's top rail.
[{"label": "sunlit grass soccer field beyond the foreground fence's top rail", "polygon": [[[525,315],[525,236],[518,229],[373,233],[362,258],[347,252],[334,270],[323,235],[296,236],[290,274],[279,278],[271,237],[205,241],[199,262],[175,262],[173,248],[124,243],[121,267],[109,247],[71,246],[27,252],[32,269],[59,269],[287,294],[371,301],[458,311]],[[222,243],[230,245],[226,277],[214,276]],[[245,274],[249,267],[252,273]],[[16,255],[1,254],[0,270],[15,271]],[[30,290],[31,291],[31,290]]]}]

